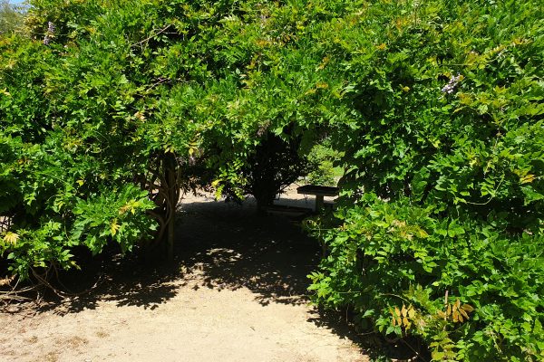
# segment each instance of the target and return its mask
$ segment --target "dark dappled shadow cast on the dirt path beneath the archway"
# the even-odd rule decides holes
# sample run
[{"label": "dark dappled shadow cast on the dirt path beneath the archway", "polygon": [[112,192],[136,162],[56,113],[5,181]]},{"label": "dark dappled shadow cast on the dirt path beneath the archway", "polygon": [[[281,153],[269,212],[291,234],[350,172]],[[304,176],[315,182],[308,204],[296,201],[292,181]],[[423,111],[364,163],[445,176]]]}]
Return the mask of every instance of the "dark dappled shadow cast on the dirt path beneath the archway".
[{"label": "dark dappled shadow cast on the dirt path beneath the archway", "polygon": [[100,301],[154,309],[189,283],[195,289],[245,287],[262,305],[306,302],[306,275],[319,262],[319,247],[286,217],[258,216],[251,199],[236,205],[189,197],[178,219],[174,262],[104,252],[83,262],[83,271],[61,275],[60,289],[82,291],[98,280],[96,287],[68,300],[44,298],[40,310],[77,312]]}]

